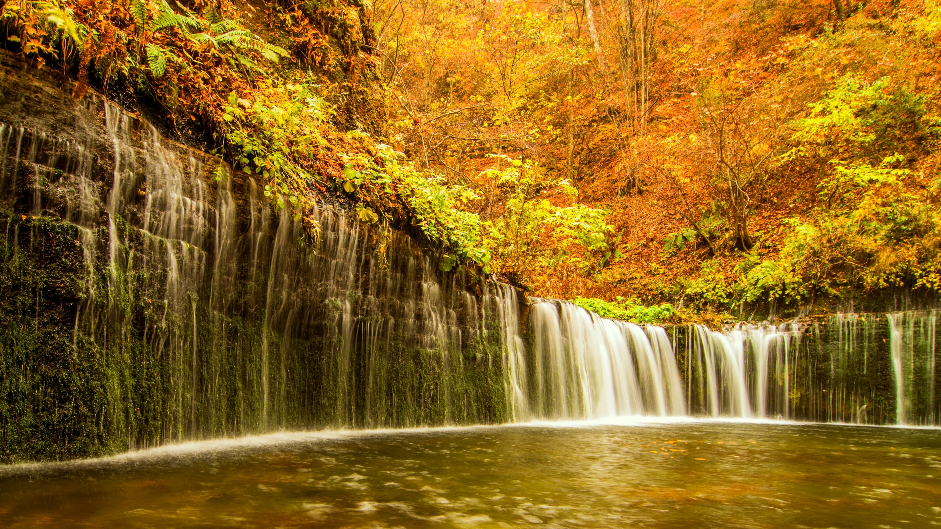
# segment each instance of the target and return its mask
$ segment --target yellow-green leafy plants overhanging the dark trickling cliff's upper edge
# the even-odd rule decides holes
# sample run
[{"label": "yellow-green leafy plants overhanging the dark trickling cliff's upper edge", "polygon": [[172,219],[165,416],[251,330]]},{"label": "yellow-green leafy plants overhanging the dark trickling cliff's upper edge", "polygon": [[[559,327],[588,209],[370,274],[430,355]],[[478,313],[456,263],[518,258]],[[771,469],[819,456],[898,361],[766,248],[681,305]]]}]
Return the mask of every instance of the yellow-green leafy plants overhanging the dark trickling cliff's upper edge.
[{"label": "yellow-green leafy plants overhanging the dark trickling cliff's upper edge", "polygon": [[[443,270],[474,263],[488,271],[490,254],[484,247],[488,227],[480,216],[463,209],[477,196],[416,168],[404,154],[361,131],[338,135],[329,124],[333,110],[315,88],[305,81],[266,80],[246,94],[253,101],[232,92],[224,116],[236,164],[263,178],[265,196],[279,207],[286,205],[284,200],[291,203],[295,216],[307,221],[311,246],[316,246],[316,224],[306,214],[318,192],[315,188],[336,184],[356,200],[363,222],[410,218],[439,248]],[[330,182],[318,168],[329,171],[327,145],[336,149],[343,143],[348,148],[340,153],[343,171]]]}]

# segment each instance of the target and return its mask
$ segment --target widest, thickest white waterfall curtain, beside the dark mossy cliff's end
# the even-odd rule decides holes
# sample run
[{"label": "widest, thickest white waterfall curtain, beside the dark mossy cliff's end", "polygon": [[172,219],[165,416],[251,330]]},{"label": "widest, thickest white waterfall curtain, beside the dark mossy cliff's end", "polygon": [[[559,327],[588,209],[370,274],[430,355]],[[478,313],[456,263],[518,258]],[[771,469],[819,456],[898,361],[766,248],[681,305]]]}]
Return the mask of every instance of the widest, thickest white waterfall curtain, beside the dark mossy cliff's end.
[{"label": "widest, thickest white waterfall curtain, beside the dark mossy cliff's end", "polygon": [[664,329],[601,318],[566,301],[534,299],[529,383],[513,385],[526,418],[599,419],[686,413]]}]

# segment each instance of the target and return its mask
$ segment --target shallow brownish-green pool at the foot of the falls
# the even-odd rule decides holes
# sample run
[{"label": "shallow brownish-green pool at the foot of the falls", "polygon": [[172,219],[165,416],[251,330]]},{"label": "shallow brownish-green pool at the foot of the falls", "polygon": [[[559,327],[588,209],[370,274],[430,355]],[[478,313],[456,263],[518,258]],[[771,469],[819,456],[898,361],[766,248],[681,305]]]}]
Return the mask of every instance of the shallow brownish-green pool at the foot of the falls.
[{"label": "shallow brownish-green pool at the foot of the falls", "polygon": [[0,467],[8,527],[926,527],[941,431],[683,422],[285,434]]}]

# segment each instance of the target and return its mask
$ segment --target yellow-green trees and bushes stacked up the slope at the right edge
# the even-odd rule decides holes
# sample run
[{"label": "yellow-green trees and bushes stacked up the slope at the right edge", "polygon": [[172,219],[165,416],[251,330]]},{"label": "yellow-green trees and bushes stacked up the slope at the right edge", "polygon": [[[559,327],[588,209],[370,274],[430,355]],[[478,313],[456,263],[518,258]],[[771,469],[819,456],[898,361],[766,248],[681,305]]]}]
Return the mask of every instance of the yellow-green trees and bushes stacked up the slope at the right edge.
[{"label": "yellow-green trees and bushes stacked up the slope at the right edge", "polygon": [[789,220],[791,234],[775,260],[742,267],[742,300],[795,304],[814,293],[901,286],[937,291],[938,188],[911,168],[936,144],[925,99],[889,77],[865,82],[847,74],[792,125],[794,146],[782,159],[826,162],[819,200],[810,216]]}]

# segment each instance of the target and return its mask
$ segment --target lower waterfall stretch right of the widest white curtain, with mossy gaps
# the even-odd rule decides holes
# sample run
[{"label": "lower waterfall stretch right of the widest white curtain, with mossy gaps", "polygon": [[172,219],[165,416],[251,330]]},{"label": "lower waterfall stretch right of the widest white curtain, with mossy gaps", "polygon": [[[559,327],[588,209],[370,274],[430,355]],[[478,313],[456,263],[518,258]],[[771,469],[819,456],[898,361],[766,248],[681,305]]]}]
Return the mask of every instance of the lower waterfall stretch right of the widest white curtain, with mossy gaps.
[{"label": "lower waterfall stretch right of the widest white curtain, with mossy gaps", "polygon": [[824,324],[691,326],[678,358],[691,412],[941,425],[937,311],[836,314]]}]

